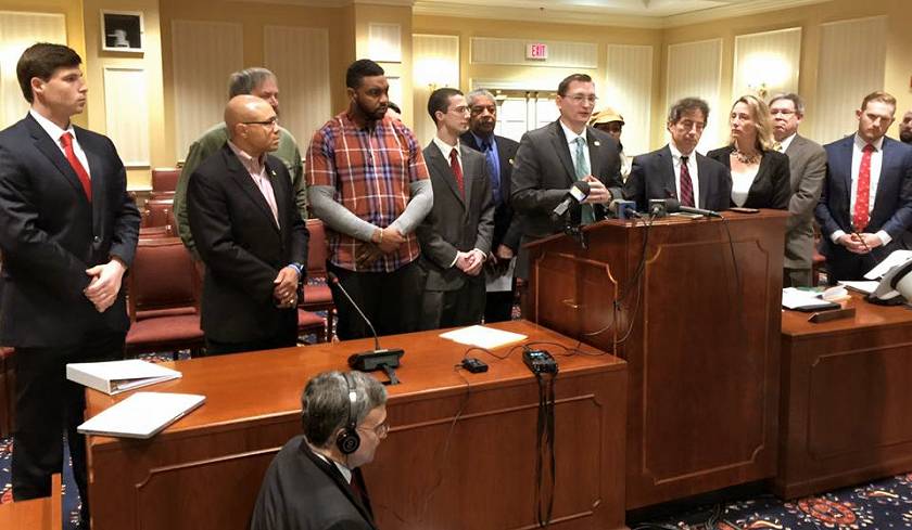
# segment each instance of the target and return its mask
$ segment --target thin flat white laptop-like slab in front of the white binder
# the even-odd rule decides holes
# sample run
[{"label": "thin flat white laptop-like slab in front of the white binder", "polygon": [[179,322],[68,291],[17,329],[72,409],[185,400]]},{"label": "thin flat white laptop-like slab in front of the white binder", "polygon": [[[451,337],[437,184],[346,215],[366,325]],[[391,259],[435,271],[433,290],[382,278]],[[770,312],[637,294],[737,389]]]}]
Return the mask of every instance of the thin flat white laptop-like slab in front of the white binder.
[{"label": "thin flat white laptop-like slab in front of the white binder", "polygon": [[136,392],[76,430],[84,435],[152,438],[205,400],[205,396],[192,393]]}]

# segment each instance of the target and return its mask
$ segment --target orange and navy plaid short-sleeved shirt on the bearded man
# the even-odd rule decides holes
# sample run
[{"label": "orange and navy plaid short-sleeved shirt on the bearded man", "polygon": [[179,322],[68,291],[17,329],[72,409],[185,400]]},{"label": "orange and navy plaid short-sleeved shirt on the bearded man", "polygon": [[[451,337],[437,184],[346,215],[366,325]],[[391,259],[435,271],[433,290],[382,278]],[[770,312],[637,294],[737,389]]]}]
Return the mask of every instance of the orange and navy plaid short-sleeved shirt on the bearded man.
[{"label": "orange and navy plaid short-sleeved shirt on the bearded man", "polygon": [[[307,185],[335,189],[333,198],[354,215],[387,228],[405,210],[411,182],[428,179],[428,167],[415,135],[401,121],[384,117],[373,129],[359,128],[347,113],[314,133],[305,163]],[[365,242],[326,228],[329,260],[358,272],[392,272],[420,253],[415,233],[405,235],[398,251],[358,269],[356,256]]]}]

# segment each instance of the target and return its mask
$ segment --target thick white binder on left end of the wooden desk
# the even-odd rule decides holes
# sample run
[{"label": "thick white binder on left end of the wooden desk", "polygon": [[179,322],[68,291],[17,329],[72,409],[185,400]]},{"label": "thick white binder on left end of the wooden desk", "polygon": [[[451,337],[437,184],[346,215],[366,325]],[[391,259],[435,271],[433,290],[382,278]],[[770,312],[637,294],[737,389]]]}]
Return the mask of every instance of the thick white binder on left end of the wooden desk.
[{"label": "thick white binder on left end of the wooden desk", "polygon": [[178,377],[176,370],[139,359],[66,365],[67,379],[111,396]]}]

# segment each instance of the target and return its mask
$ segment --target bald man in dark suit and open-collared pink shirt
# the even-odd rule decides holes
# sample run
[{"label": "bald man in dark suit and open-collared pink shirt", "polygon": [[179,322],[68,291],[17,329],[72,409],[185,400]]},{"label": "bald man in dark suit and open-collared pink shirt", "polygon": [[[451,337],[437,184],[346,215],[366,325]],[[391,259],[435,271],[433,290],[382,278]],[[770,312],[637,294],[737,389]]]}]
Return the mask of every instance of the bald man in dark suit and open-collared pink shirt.
[{"label": "bald man in dark suit and open-collared pink shirt", "polygon": [[276,111],[255,95],[225,107],[228,141],[193,171],[190,232],[206,266],[201,325],[206,353],[294,346],[307,229],[279,144]]}]

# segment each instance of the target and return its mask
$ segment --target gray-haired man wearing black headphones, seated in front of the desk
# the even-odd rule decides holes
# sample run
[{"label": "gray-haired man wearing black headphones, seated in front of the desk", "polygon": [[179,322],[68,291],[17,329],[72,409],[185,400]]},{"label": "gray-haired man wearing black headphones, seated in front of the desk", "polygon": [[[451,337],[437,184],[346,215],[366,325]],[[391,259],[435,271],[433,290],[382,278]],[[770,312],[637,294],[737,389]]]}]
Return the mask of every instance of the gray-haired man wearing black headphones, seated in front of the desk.
[{"label": "gray-haired man wearing black headphones, seated in front of the desk", "polygon": [[358,467],[387,437],[387,389],[362,372],[325,372],[301,404],[304,435],[269,465],[251,530],[377,530]]}]

